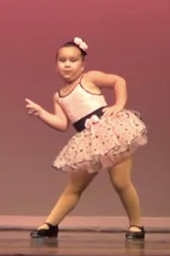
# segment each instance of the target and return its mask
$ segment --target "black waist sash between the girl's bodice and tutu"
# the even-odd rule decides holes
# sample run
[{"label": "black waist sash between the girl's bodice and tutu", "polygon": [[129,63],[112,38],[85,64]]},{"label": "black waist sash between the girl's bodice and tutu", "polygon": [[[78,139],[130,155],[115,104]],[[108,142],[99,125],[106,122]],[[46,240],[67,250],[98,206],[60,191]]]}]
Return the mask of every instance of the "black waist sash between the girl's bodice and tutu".
[{"label": "black waist sash between the girl's bodice and tutu", "polygon": [[74,123],[72,125],[74,126],[76,131],[83,131],[85,129],[86,119],[91,118],[91,116],[93,116],[94,114],[96,116],[98,116],[98,118],[101,118],[101,116],[103,116],[103,109],[104,108],[105,107],[100,107],[99,109],[96,109],[95,111],[93,111],[92,113],[88,114],[87,116],[84,116],[84,118],[79,119],[79,121],[77,121],[76,123]]}]

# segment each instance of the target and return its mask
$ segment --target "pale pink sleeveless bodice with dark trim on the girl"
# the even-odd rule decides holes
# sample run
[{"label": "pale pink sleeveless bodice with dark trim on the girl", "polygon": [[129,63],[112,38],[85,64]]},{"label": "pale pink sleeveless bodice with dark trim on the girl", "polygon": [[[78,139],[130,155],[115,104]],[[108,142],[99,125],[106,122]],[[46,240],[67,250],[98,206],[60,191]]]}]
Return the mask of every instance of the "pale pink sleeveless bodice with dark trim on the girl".
[{"label": "pale pink sleeveless bodice with dark trim on the girl", "polygon": [[92,113],[100,107],[107,106],[105,97],[103,94],[93,94],[88,92],[81,83],[67,95],[58,95],[58,101],[65,114],[71,121],[75,123],[79,119],[84,118],[88,114]]}]

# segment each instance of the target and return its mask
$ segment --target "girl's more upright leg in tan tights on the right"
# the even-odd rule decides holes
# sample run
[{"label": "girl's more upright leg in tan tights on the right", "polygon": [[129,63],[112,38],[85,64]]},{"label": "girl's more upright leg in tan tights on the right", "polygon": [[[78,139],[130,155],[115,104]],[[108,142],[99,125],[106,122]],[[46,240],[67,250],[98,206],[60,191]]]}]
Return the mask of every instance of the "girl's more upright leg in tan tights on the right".
[{"label": "girl's more upright leg in tan tights on the right", "polygon": [[132,167],[132,159],[117,164],[109,170],[110,180],[116,192],[122,200],[128,219],[130,222],[130,231],[139,232],[141,229],[134,227],[141,225],[140,205],[137,192],[130,180],[130,172]]}]

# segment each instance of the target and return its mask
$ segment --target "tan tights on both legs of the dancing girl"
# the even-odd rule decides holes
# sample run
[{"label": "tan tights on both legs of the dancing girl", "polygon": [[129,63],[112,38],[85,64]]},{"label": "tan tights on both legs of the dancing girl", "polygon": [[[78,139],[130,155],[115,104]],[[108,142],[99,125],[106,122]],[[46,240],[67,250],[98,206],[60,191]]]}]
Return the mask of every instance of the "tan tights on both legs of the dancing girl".
[{"label": "tan tights on both legs of the dancing girl", "polygon": [[[139,198],[130,180],[131,166],[132,160],[131,158],[128,158],[108,170],[108,173],[111,184],[118,193],[122,200],[123,207],[127,212],[129,224],[140,226],[141,217]],[[87,171],[72,173],[69,177],[69,183],[45,222],[49,222],[52,225],[59,224],[64,217],[76,207],[82,192],[87,188],[95,176],[96,173],[89,174]],[[40,228],[48,228],[48,226],[43,224],[38,229]],[[138,228],[130,228],[130,230],[139,231]]]}]

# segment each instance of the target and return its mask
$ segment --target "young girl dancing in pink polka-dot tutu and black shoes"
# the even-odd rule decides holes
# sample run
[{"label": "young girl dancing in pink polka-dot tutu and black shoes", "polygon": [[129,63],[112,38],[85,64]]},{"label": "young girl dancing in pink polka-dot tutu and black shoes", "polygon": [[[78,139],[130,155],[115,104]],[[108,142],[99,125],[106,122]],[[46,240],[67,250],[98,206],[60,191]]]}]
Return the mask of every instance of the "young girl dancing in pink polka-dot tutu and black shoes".
[{"label": "young girl dancing in pink polka-dot tutu and black shoes", "polygon": [[[52,164],[69,174],[69,182],[45,223],[33,230],[31,237],[57,237],[59,223],[76,207],[96,174],[105,169],[127,212],[126,238],[144,239],[130,171],[133,152],[147,143],[147,130],[140,114],[125,109],[127,87],[122,77],[101,71],[84,73],[87,50],[86,42],[76,37],[57,52],[57,70],[65,87],[54,95],[54,114],[25,99],[29,114],[58,131],[66,131],[71,122],[77,131]],[[115,92],[113,106],[107,106],[102,87]]]}]

